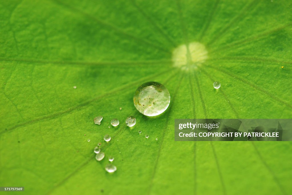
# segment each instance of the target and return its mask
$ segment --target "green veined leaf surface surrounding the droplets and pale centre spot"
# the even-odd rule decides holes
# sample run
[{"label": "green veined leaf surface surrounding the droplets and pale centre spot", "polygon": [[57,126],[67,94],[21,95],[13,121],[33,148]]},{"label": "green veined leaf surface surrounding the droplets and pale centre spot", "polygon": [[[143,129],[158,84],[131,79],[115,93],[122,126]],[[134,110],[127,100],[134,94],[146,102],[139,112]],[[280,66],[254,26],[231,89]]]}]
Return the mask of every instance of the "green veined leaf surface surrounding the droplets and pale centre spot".
[{"label": "green veined leaf surface surrounding the droplets and pale centre spot", "polygon": [[[292,118],[291,5],[2,0],[0,185],[25,187],[9,194],[290,194],[291,142],[175,142],[174,119]],[[208,60],[173,68],[173,49],[189,42],[204,44]],[[154,118],[132,99],[151,80],[171,94]]]}]

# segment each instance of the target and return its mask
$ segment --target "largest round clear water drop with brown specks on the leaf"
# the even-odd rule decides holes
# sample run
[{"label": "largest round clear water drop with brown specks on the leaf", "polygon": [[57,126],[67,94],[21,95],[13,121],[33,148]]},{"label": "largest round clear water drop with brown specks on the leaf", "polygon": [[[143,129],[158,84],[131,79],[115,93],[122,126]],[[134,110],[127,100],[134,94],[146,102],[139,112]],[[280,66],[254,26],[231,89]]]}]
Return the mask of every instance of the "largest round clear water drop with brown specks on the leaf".
[{"label": "largest round clear water drop with brown specks on the leaf", "polygon": [[142,84],[134,94],[134,106],[146,116],[157,116],[169,106],[170,94],[163,84],[147,82]]}]

